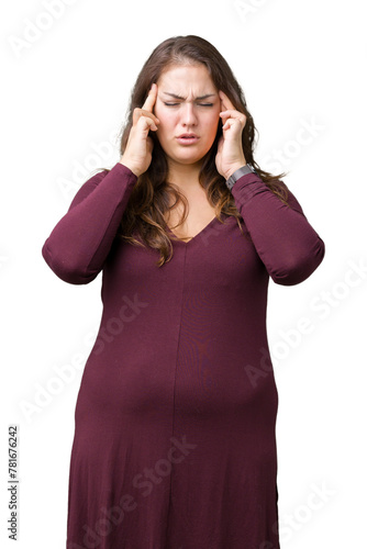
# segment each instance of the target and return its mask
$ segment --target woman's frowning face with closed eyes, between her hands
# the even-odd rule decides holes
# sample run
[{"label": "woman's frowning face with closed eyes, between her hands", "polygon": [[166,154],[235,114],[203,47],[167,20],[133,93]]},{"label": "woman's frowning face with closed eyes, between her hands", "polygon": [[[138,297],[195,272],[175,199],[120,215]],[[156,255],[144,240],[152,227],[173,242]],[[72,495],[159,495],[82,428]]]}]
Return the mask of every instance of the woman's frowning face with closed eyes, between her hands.
[{"label": "woman's frowning face with closed eyes, between her hands", "polygon": [[[204,65],[175,65],[156,82],[156,135],[168,163],[194,164],[212,146],[220,121],[221,100]],[[180,137],[181,135],[191,135]]]}]

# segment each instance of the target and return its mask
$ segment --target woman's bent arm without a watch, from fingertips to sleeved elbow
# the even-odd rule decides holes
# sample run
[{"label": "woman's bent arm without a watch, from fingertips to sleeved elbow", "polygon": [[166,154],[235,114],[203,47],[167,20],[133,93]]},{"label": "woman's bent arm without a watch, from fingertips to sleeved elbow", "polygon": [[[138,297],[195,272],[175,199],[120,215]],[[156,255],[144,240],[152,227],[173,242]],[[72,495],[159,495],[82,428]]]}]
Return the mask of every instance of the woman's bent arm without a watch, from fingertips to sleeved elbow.
[{"label": "woman's bent arm without a watch, from fingertips to sleeved elbow", "polygon": [[137,178],[152,161],[159,120],[153,114],[157,85],[153,83],[133,124],[120,161],[89,179],[75,195],[42,248],[51,269],[65,282],[87,284],[101,271]]}]

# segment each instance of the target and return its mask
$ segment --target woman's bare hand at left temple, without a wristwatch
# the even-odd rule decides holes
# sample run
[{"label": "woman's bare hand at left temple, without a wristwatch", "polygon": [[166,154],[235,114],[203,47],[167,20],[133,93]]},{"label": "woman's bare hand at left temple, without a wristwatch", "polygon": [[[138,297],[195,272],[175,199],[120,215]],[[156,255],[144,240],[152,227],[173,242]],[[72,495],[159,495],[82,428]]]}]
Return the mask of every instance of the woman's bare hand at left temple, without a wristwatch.
[{"label": "woman's bare hand at left temple, without a wristwatch", "polygon": [[148,137],[148,133],[149,130],[158,130],[159,120],[153,114],[157,91],[158,86],[153,83],[142,109],[134,109],[133,125],[124,154],[120,159],[120,163],[130,168],[137,177],[148,169],[152,161],[153,139]]}]

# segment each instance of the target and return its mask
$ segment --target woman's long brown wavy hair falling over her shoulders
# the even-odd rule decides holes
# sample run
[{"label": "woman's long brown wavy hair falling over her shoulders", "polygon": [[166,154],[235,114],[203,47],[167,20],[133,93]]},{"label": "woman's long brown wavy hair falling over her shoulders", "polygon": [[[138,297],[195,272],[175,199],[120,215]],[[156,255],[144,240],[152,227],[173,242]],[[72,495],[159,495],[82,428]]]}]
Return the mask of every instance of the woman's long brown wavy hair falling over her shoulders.
[{"label": "woman's long brown wavy hair falling over her shoulders", "polygon": [[[254,158],[254,136],[255,132],[258,132],[247,109],[241,86],[224,57],[210,42],[200,36],[174,36],[162,42],[152,52],[131,92],[126,120],[119,134],[121,136],[121,155],[125,150],[133,125],[133,111],[135,108],[142,108],[152,83],[157,82],[160,74],[171,66],[200,64],[207,67],[215,88],[224,91],[234,108],[246,115],[247,120],[242,133],[242,145],[246,161],[254,166],[267,187],[287,204],[288,188],[280,181],[280,178],[285,177],[286,173],[273,176],[262,170]],[[167,181],[168,164],[165,152],[155,132],[149,131],[148,135],[154,143],[152,163],[148,169],[137,178],[116,236],[133,245],[149,246],[159,250],[160,257],[156,265],[162,267],[173,257],[171,238],[179,239],[177,236],[170,236],[167,233],[165,213],[181,202],[184,204],[184,213],[179,223],[181,224],[188,214],[188,202],[177,186]],[[220,120],[213,145],[201,160],[199,183],[205,190],[208,201],[214,208],[218,220],[223,223],[222,213],[233,215],[237,220],[240,231],[244,234],[242,229],[243,219],[235,206],[232,192],[225,186],[225,178],[219,173],[215,166],[218,141],[221,135],[222,121]],[[173,195],[175,200],[173,205],[169,205],[169,199]],[[248,233],[247,236],[249,236]]]}]

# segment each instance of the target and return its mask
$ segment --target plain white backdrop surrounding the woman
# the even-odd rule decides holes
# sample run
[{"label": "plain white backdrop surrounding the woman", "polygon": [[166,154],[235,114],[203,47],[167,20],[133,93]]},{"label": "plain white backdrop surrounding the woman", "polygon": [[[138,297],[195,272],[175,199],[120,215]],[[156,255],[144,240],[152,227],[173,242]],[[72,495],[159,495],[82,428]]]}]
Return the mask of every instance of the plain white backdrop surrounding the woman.
[{"label": "plain white backdrop surrounding the woman", "polygon": [[[259,131],[258,163],[289,171],[285,181],[326,246],[322,265],[303,283],[269,282],[281,547],[364,547],[363,11],[356,0],[8,3],[0,103],[1,547],[14,547],[7,531],[7,434],[16,424],[16,547],[65,548],[74,411],[99,326],[101,276],[67,284],[41,248],[84,173],[119,160],[113,136],[135,78],[153,48],[178,34],[203,36],[229,60]],[[104,156],[109,143],[112,153]],[[302,318],[307,334],[299,332]],[[66,365],[74,378],[63,382]],[[26,414],[24,403],[38,408]]]}]

